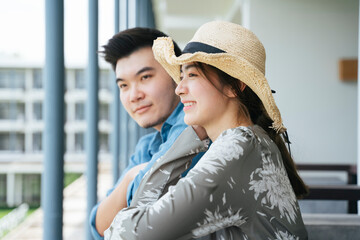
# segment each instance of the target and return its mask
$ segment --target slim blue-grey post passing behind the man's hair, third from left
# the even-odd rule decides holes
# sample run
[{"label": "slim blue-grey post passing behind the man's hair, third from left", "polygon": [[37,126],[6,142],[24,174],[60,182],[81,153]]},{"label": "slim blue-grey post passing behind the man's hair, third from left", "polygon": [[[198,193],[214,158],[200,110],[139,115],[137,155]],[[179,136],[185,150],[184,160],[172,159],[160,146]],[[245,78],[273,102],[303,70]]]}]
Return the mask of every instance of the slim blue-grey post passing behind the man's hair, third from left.
[{"label": "slim blue-grey post passing behind the man's hair, third from left", "polygon": [[[119,0],[114,1],[114,8],[115,8],[115,34],[119,32],[119,8],[120,3]],[[115,79],[116,77],[113,77]],[[119,178],[119,146],[120,146],[120,101],[119,101],[119,88],[115,84],[115,80],[111,83],[113,89],[113,102],[112,102],[112,170],[113,170],[113,183],[117,182]]]}]

